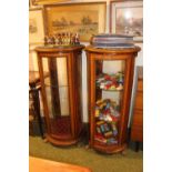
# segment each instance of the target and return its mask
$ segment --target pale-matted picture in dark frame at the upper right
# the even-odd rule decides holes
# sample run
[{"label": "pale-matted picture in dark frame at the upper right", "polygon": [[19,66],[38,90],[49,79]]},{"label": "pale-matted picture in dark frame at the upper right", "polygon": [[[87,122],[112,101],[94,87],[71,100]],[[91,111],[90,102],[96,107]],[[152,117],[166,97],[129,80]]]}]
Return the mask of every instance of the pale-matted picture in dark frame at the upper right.
[{"label": "pale-matted picture in dark frame at the upper right", "polygon": [[143,1],[111,1],[110,32],[143,41]]}]

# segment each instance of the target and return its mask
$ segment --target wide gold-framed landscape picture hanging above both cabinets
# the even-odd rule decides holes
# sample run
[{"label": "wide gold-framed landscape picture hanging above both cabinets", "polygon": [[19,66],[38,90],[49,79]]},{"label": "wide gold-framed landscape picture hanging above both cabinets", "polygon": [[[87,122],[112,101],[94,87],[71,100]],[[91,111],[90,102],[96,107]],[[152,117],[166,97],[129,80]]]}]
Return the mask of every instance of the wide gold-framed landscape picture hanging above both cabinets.
[{"label": "wide gold-framed landscape picture hanging above both cabinets", "polygon": [[79,33],[88,42],[92,34],[105,31],[107,3],[67,3],[44,6],[47,34]]}]

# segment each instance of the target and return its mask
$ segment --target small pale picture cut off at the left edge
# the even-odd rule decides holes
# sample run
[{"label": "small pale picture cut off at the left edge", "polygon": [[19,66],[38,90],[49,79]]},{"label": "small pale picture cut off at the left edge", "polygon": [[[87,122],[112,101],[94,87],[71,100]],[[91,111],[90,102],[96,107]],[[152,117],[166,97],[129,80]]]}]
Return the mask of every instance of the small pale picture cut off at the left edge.
[{"label": "small pale picture cut off at the left edge", "polygon": [[29,44],[44,42],[44,26],[42,9],[29,10]]}]

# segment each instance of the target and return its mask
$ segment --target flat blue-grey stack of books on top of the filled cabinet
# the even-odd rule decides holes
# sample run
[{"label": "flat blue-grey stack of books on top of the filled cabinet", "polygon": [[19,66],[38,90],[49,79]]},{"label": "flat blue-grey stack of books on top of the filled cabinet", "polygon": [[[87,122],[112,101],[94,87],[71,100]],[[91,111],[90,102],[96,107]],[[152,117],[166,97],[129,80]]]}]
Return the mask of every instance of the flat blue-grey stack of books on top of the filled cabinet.
[{"label": "flat blue-grey stack of books on top of the filled cabinet", "polygon": [[91,38],[90,43],[95,48],[133,48],[132,36],[123,34],[97,34]]}]

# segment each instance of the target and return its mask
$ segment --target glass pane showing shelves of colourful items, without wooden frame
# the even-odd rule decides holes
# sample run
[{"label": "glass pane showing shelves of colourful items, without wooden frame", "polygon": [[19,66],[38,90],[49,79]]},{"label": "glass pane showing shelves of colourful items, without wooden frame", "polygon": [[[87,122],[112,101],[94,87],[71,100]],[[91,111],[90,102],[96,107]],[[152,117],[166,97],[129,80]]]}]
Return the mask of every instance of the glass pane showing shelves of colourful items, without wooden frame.
[{"label": "glass pane showing shelves of colourful items, without wooden frame", "polygon": [[95,61],[94,141],[99,144],[119,143],[124,64],[122,60]]}]

